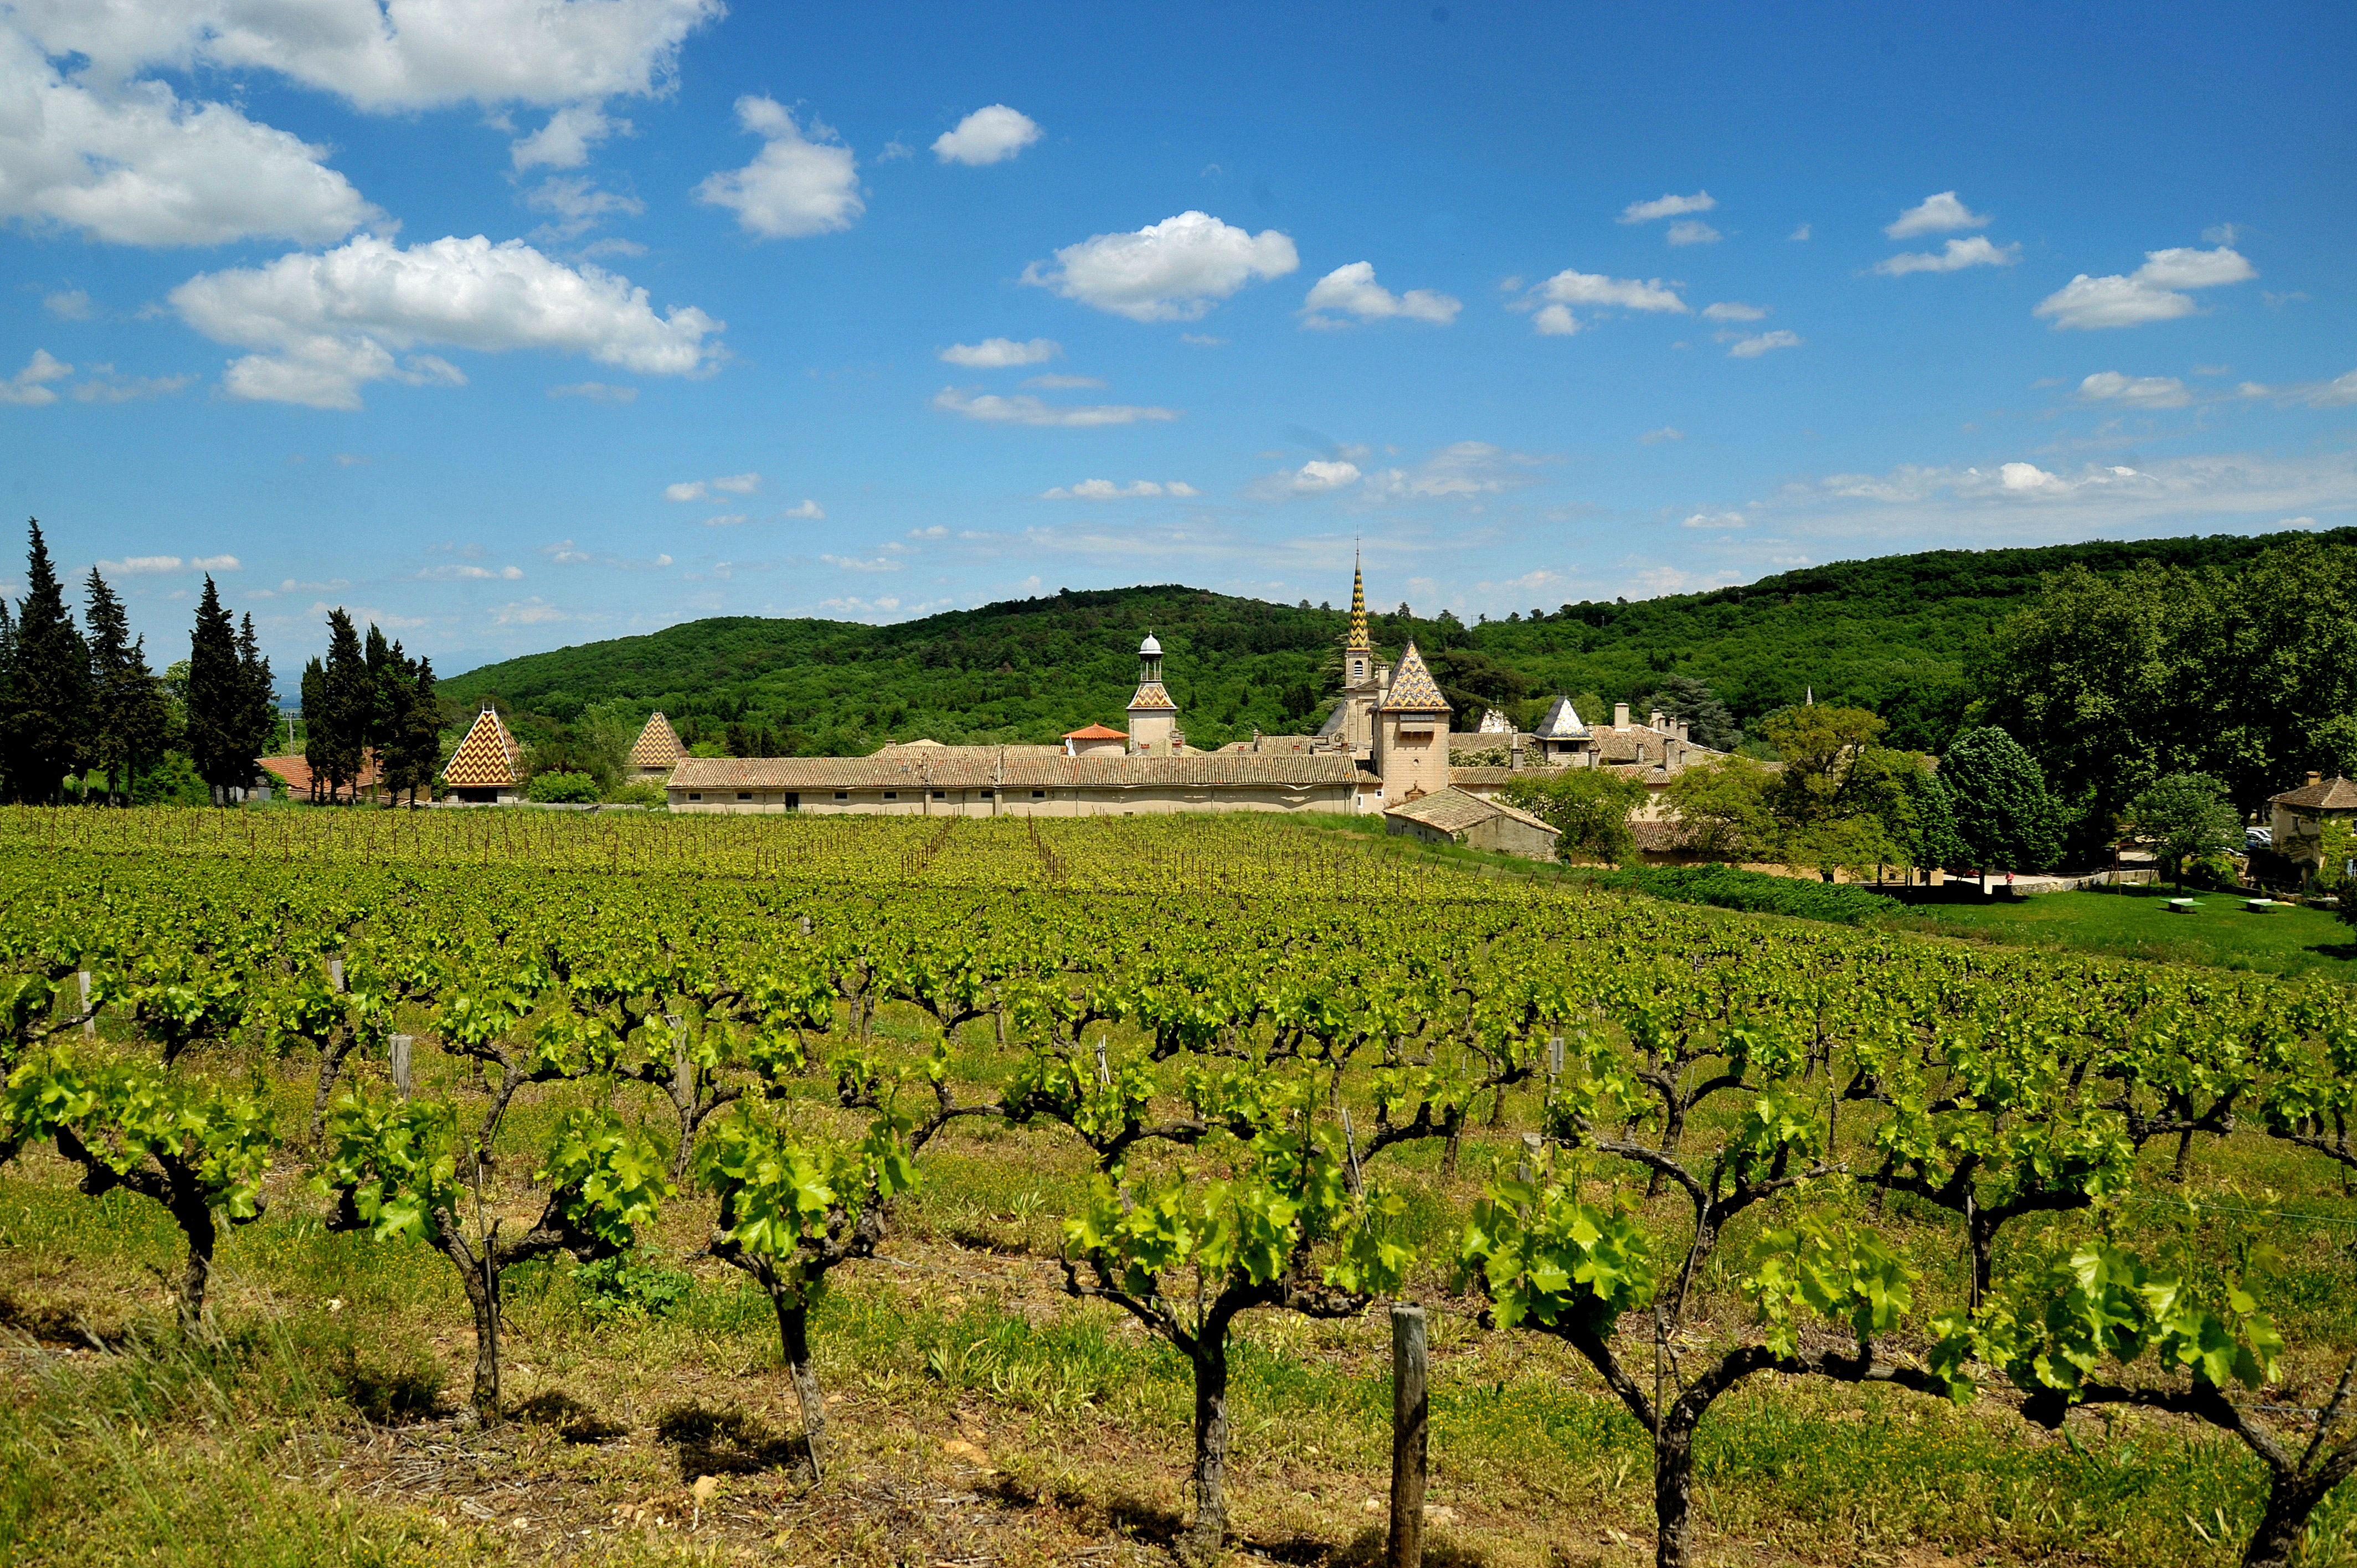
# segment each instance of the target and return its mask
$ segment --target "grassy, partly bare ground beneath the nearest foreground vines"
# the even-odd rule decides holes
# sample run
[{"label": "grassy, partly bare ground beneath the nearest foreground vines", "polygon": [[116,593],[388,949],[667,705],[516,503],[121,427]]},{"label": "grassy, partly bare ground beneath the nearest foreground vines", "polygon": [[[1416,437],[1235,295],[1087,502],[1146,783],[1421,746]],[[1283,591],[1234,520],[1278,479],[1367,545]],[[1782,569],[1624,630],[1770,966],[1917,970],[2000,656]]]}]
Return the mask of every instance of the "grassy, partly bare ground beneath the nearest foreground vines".
[{"label": "grassy, partly bare ground beneath the nearest foreground vines", "polygon": [[[290,1085],[290,1118],[297,1101]],[[1487,1141],[1457,1181],[1438,1179],[1433,1148],[1393,1177],[1438,1224],[1513,1134]],[[2218,1254],[2275,1240],[2298,1339],[2341,1316],[2357,1200],[2251,1214],[2253,1193],[2312,1186],[2284,1167],[2256,1139],[2204,1148],[2185,1224]],[[1070,1144],[945,1139],[929,1177],[889,1257],[849,1269],[820,1311],[837,1450],[811,1488],[768,1306],[695,1257],[700,1205],[672,1207],[622,1285],[568,1261],[519,1271],[502,1330],[519,1419],[471,1429],[453,1405],[474,1339],[436,1254],[325,1233],[288,1170],[271,1217],[224,1243],[224,1344],[191,1349],[165,1316],[177,1233],[163,1214],[80,1198],[61,1162],[26,1155],[0,1177],[0,1561],[1167,1563],[1186,1368],[1127,1318],[1063,1297],[1056,1221],[1084,1181]],[[1954,1273],[1942,1217],[1916,1219],[1914,1261]],[[1445,1269],[1414,1294],[1435,1320],[1431,1561],[1648,1563],[1650,1471],[1626,1412],[1560,1344],[1480,1330]],[[1742,1316],[1723,1280],[1706,1297],[1681,1342]],[[1256,1318],[1244,1339],[1237,1556],[1379,1561],[1381,1313]],[[2178,1422],[2088,1412],[2048,1438],[2003,1398],[1954,1410],[1817,1384],[1730,1396],[1699,1434],[1699,1483],[1702,1561],[1728,1568],[2223,1566],[2258,1504],[2249,1457]],[[2319,1526],[2312,1566],[2357,1563],[2352,1509]]]}]

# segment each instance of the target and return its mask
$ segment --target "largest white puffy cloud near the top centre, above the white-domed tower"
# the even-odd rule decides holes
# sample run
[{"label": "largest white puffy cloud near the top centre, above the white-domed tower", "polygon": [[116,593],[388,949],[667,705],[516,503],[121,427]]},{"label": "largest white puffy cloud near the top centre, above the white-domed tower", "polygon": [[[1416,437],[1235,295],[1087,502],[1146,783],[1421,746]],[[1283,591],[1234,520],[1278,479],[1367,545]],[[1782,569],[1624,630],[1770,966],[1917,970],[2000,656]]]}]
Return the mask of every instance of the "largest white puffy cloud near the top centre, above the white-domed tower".
[{"label": "largest white puffy cloud near the top centre, above the white-domed tower", "polygon": [[1023,281],[1131,321],[1197,321],[1247,283],[1299,266],[1292,238],[1275,229],[1247,233],[1209,212],[1181,212],[1065,245],[1054,269],[1032,262]]}]

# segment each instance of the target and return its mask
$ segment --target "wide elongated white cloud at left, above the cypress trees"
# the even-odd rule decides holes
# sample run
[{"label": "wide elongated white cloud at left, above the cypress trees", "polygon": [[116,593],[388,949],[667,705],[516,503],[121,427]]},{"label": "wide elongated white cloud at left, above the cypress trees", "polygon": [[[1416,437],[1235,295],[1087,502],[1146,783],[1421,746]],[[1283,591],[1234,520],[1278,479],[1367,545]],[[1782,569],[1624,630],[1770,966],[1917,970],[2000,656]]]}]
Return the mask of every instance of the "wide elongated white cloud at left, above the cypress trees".
[{"label": "wide elongated white cloud at left, above the cypress trees", "polygon": [[724,325],[695,307],[658,316],[629,278],[483,236],[403,250],[363,233],[325,255],[198,274],[170,302],[205,337],[252,349],[231,361],[224,391],[313,408],[358,408],[361,387],[377,380],[467,380],[443,358],[410,354],[417,344],[552,349],[641,375],[693,375],[717,361],[719,342],[705,340]]}]

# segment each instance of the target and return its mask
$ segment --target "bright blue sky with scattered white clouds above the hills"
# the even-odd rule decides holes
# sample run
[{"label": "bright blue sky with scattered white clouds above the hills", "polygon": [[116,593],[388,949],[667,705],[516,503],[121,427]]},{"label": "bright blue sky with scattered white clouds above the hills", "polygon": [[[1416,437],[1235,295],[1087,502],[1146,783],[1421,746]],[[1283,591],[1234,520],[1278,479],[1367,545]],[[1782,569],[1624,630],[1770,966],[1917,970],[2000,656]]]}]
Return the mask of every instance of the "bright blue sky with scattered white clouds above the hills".
[{"label": "bright blue sky with scattered white clouds above the hills", "polygon": [[[455,672],[2357,521],[2357,12],[14,0],[0,483]],[[31,106],[31,108],[28,108]],[[7,547],[0,589],[21,592]]]}]

